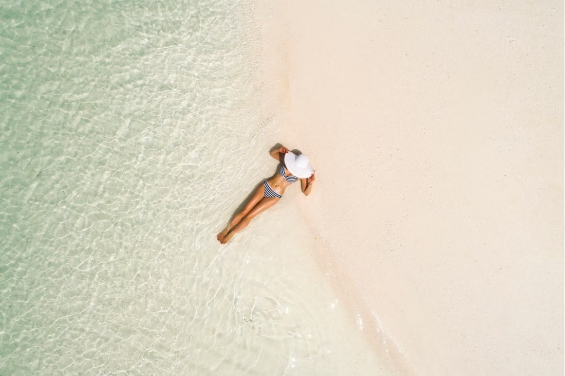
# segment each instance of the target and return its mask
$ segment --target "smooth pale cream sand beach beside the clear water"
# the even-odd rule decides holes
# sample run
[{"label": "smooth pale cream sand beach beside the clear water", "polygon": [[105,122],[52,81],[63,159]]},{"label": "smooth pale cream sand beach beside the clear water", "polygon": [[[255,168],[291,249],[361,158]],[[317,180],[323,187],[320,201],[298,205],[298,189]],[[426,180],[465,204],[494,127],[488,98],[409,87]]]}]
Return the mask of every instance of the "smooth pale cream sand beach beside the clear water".
[{"label": "smooth pale cream sand beach beside the clear water", "polygon": [[276,141],[316,168],[299,208],[375,350],[399,374],[563,374],[563,3],[257,15]]}]

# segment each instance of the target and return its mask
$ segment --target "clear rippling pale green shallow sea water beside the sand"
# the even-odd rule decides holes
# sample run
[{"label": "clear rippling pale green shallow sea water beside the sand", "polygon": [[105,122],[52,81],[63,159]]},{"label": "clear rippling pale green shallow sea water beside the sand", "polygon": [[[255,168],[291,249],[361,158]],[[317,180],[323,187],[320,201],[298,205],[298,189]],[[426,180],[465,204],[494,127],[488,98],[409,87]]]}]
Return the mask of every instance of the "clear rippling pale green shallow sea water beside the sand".
[{"label": "clear rippling pale green shallow sea water beside the sand", "polygon": [[245,6],[0,2],[0,374],[380,372],[292,194],[215,239],[276,165]]}]

